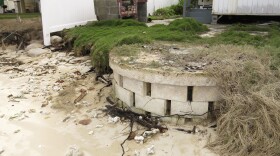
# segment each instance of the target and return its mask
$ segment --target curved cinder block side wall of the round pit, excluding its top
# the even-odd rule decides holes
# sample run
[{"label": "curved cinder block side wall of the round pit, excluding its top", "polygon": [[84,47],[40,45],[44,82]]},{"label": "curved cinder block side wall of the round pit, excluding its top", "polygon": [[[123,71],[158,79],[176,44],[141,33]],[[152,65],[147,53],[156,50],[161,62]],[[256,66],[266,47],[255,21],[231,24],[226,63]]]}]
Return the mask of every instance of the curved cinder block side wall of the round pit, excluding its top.
[{"label": "curved cinder block side wall of the round pit, excluding its top", "polygon": [[160,116],[207,118],[219,93],[207,77],[122,69],[111,63],[116,97],[131,108]]}]

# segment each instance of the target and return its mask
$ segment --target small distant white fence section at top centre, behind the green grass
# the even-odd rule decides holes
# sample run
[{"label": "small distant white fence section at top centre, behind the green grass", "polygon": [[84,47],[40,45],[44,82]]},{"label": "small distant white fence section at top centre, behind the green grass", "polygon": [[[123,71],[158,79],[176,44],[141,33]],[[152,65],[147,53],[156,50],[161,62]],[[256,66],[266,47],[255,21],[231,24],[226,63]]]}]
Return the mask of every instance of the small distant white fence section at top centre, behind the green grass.
[{"label": "small distant white fence section at top centre, behind the green grass", "polygon": [[157,9],[178,4],[179,0],[148,0],[148,14],[153,14]]}]

